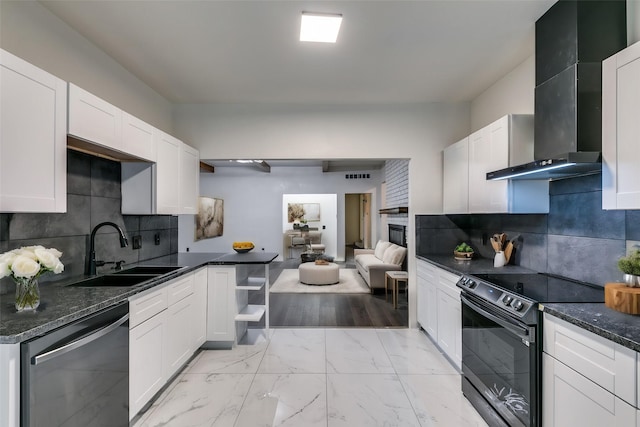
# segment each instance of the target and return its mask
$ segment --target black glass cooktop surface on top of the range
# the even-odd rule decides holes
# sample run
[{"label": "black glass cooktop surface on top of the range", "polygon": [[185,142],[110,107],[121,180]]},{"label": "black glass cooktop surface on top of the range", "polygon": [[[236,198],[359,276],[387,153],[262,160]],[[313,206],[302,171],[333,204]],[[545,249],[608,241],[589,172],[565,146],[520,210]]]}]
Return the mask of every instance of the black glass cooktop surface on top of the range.
[{"label": "black glass cooktop surface on top of the range", "polygon": [[474,274],[474,277],[539,303],[604,302],[604,288],[543,274]]}]

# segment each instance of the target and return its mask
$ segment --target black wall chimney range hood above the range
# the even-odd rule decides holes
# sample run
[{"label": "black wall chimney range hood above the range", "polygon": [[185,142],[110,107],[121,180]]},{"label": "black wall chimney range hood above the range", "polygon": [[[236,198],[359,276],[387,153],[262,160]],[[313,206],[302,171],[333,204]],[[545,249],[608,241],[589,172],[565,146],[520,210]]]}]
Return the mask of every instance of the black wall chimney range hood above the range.
[{"label": "black wall chimney range hood above the range", "polygon": [[487,179],[600,173],[602,60],[625,47],[625,0],[559,0],[538,19],[534,161]]}]

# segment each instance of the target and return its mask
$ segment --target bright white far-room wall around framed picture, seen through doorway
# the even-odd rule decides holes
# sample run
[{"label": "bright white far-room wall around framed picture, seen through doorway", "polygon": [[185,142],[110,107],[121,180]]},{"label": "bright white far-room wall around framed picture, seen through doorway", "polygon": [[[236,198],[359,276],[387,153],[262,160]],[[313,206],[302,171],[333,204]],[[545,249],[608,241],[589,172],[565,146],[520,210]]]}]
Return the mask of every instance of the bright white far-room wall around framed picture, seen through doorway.
[{"label": "bright white far-room wall around framed picture, seen through doorway", "polygon": [[[344,194],[342,194],[342,212],[344,212]],[[320,221],[309,221],[308,226],[317,228],[322,233],[322,243],[325,245],[325,254],[344,260],[344,250],[342,256],[338,258],[338,197],[337,194],[284,194],[282,196],[282,233],[291,230],[293,225],[288,222],[287,210],[289,203],[319,203]],[[344,218],[344,215],[341,215]],[[324,228],[323,228],[324,227]],[[334,230],[334,231],[330,231]],[[344,221],[343,221],[344,230]],[[344,242],[345,233],[342,233]],[[285,242],[287,245],[289,242]],[[342,245],[344,247],[344,244]],[[287,254],[283,253],[286,257]],[[295,256],[295,255],[294,255]]]}]

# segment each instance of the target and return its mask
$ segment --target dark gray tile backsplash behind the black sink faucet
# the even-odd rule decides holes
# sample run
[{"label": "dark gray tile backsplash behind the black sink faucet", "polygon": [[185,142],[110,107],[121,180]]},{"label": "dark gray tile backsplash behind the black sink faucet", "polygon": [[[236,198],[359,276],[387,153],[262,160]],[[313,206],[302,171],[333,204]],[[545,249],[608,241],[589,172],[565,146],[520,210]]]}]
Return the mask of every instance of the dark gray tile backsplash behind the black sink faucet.
[{"label": "dark gray tile backsplash behind the black sink faucet", "polygon": [[[178,250],[177,217],[169,215],[122,215],[120,163],[67,151],[67,212],[64,214],[0,214],[0,253],[28,245],[54,247],[63,252],[65,271],[48,274],[40,282],[81,275],[89,247],[89,235],[97,224],[111,221],[125,231],[129,246],[120,247],[112,227],[102,227],[96,235],[96,258],[137,263]],[[155,234],[160,244],[154,244]],[[142,248],[133,250],[132,237],[142,236]],[[98,272],[113,265],[99,268]],[[0,280],[0,293],[13,292],[8,278]]]}]

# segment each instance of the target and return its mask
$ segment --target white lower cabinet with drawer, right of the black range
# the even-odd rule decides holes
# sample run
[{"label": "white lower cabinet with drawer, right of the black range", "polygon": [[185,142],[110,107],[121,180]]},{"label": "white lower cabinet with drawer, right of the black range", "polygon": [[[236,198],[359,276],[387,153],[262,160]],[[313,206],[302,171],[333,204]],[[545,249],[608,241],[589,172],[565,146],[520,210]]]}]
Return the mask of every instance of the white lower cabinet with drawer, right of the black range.
[{"label": "white lower cabinet with drawer, right of the black range", "polygon": [[544,426],[634,426],[637,353],[545,313]]}]

